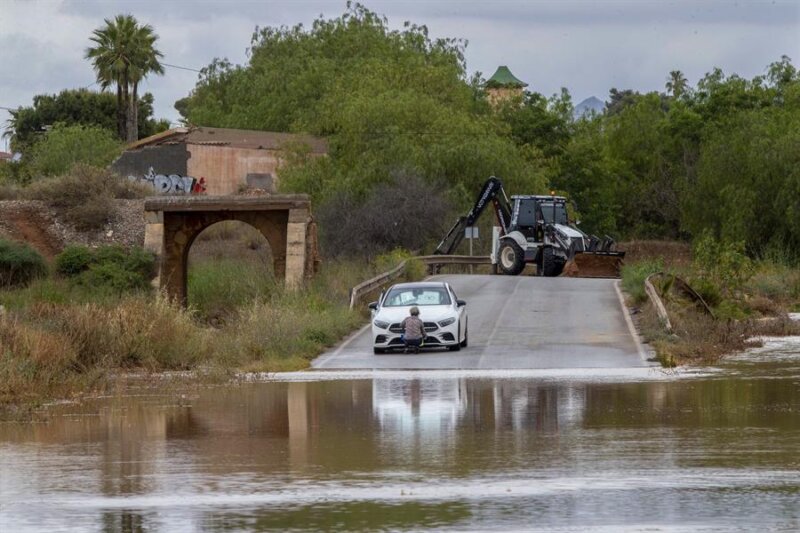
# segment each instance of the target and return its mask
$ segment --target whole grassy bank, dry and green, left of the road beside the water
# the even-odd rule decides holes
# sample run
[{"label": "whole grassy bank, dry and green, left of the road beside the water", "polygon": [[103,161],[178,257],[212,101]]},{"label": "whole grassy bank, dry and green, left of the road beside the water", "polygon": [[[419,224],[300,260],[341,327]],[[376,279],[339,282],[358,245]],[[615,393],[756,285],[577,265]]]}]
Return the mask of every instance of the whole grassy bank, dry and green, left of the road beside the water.
[{"label": "whole grassy bank, dry and green, left of the road beside the water", "polygon": [[[80,275],[0,290],[0,414],[104,390],[121,371],[306,368],[363,323],[362,310],[348,308],[350,288],[400,257],[324,263],[304,289],[289,291],[252,258],[201,256],[190,270],[188,309],[152,289],[107,290]],[[224,320],[215,319],[220,309]]]}]

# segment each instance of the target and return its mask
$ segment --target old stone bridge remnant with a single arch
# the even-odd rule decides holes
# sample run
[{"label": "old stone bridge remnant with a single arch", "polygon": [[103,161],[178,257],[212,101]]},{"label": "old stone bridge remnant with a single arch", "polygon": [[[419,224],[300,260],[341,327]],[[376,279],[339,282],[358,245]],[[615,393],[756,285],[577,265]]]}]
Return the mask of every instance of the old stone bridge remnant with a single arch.
[{"label": "old stone bridge remnant with a single arch", "polygon": [[299,287],[317,270],[316,225],[304,194],[270,196],[160,197],[145,201],[144,246],[158,259],[158,284],[186,303],[189,249],[207,227],[238,220],[256,228],[269,242],[276,279]]}]

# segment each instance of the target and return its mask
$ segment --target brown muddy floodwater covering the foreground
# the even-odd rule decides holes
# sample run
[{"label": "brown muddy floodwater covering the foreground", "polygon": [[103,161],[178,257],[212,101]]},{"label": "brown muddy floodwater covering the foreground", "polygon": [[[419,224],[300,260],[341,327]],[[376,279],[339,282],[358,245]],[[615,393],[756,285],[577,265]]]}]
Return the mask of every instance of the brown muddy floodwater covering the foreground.
[{"label": "brown muddy floodwater covering the foreground", "polygon": [[800,350],[295,375],[0,424],[0,531],[800,529]]}]

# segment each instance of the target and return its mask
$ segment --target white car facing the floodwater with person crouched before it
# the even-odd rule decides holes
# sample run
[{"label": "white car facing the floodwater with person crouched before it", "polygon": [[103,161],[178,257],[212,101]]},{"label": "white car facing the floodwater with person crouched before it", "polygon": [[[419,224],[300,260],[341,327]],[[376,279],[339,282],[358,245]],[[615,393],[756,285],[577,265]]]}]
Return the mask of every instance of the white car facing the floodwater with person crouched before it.
[{"label": "white car facing the floodwater with person crouched before it", "polygon": [[398,283],[369,304],[372,311],[372,340],[376,354],[404,348],[400,323],[419,308],[425,323],[424,348],[446,347],[453,351],[467,347],[467,303],[442,281]]}]

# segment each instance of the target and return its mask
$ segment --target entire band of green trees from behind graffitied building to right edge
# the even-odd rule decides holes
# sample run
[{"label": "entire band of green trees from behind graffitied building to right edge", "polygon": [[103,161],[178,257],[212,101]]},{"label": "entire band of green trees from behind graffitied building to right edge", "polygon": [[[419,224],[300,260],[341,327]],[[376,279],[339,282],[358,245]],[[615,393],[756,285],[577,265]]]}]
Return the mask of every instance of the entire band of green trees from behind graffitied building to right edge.
[{"label": "entire band of green trees from behind graffitied building to right edge", "polygon": [[[311,28],[257,29],[246,65],[215,60],[176,103],[189,123],[305,132],[281,187],[363,202],[390,176],[419,176],[466,206],[483,181],[555,188],[583,228],[617,238],[712,232],[750,254],[800,249],[800,75],[788,57],[748,80],[713,69],[666,93],[613,88],[604,113],[573,121],[568,93],[526,92],[493,109],[464,43],[425,26],[390,30],[358,4]],[[425,191],[421,191],[425,194]]]}]

